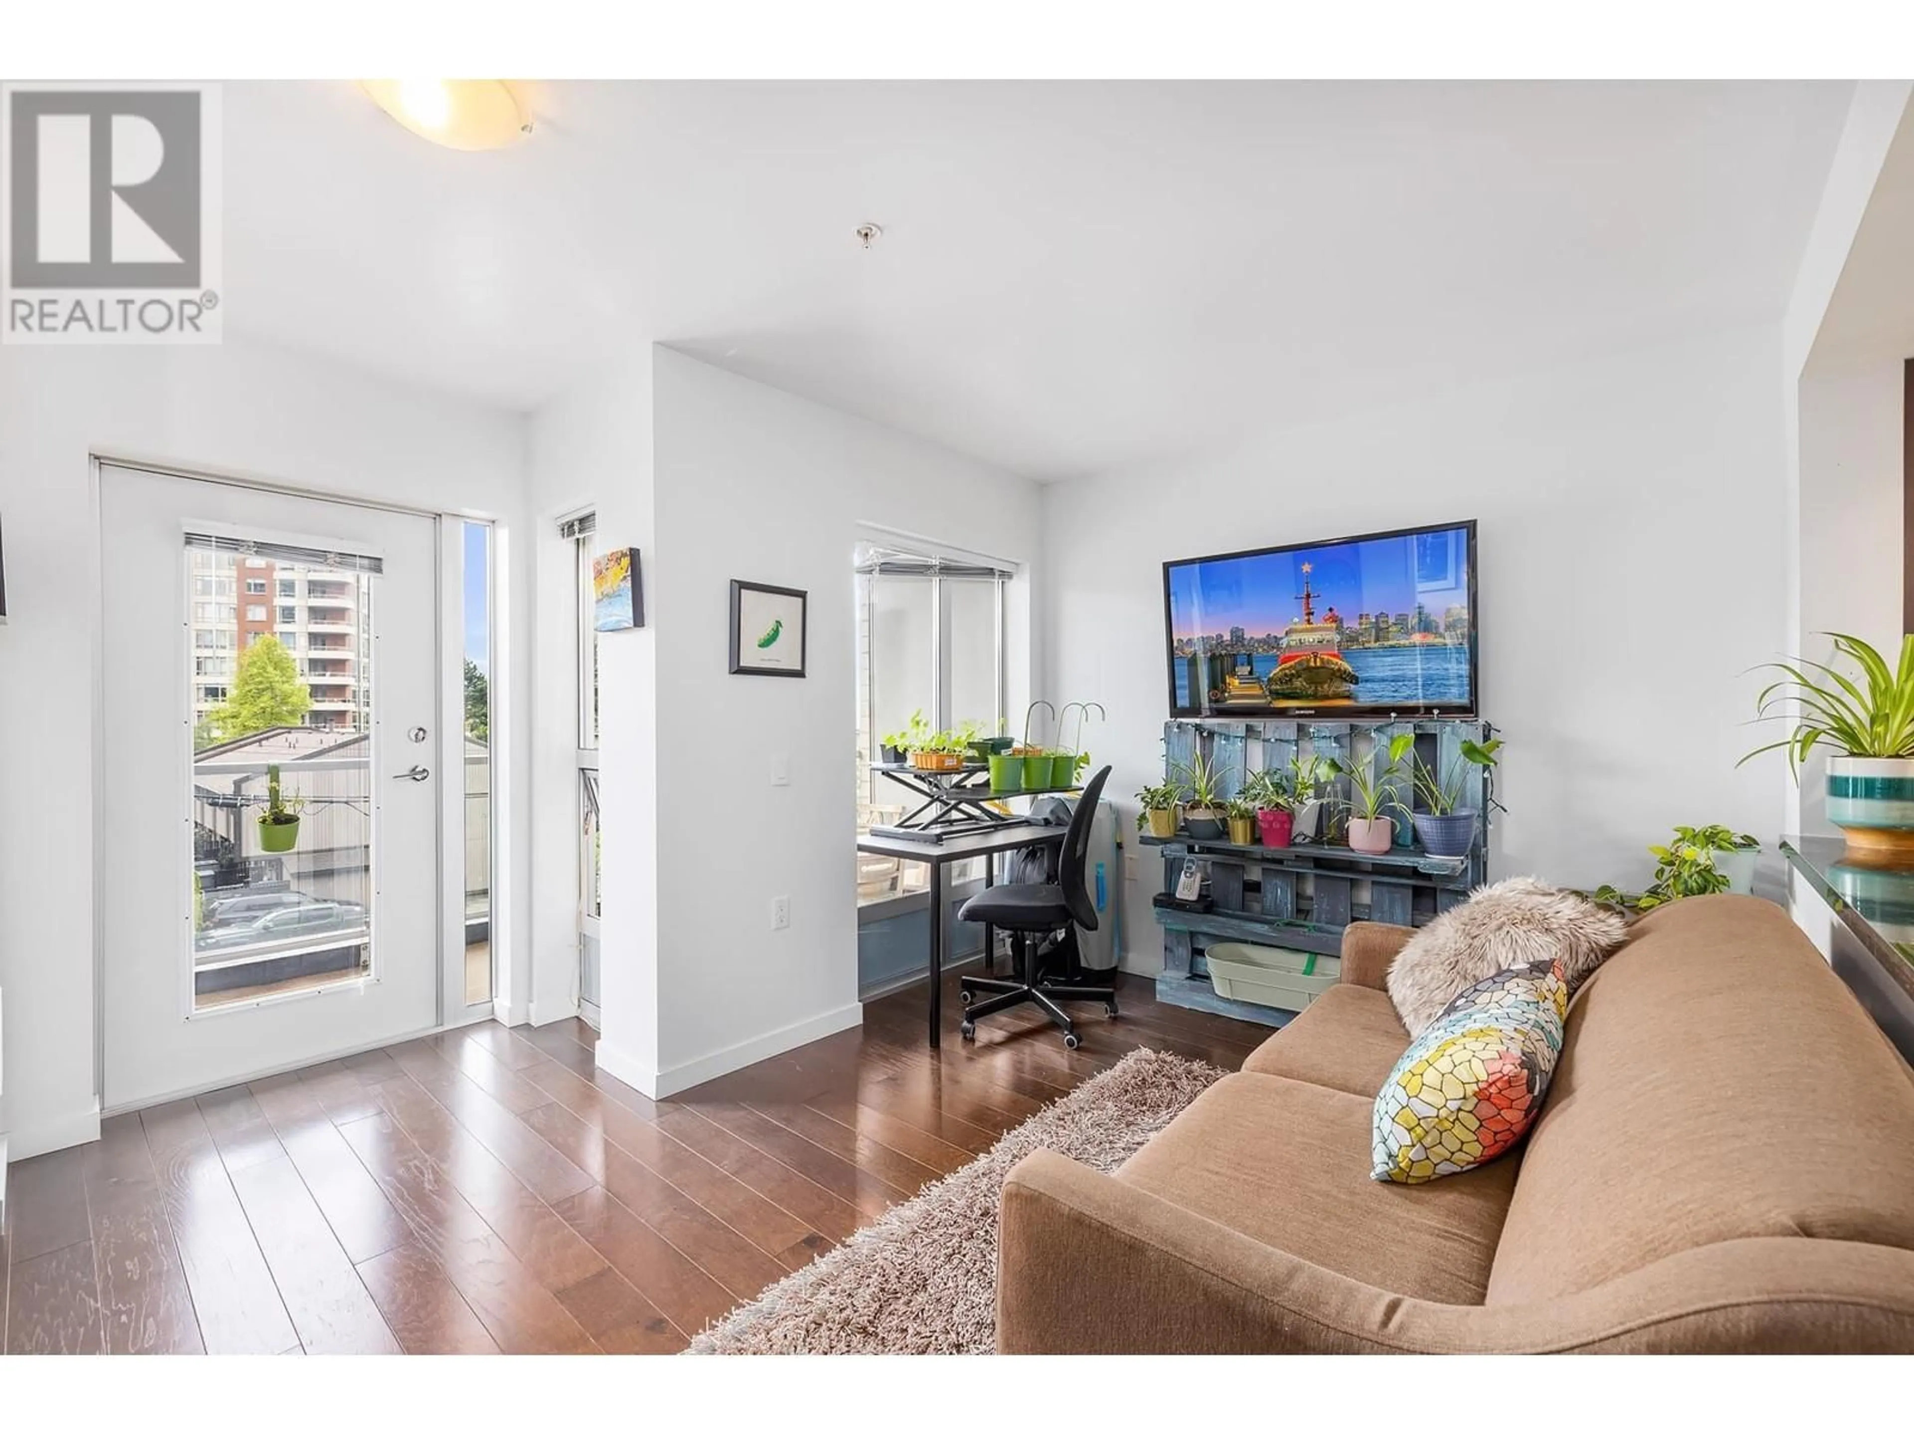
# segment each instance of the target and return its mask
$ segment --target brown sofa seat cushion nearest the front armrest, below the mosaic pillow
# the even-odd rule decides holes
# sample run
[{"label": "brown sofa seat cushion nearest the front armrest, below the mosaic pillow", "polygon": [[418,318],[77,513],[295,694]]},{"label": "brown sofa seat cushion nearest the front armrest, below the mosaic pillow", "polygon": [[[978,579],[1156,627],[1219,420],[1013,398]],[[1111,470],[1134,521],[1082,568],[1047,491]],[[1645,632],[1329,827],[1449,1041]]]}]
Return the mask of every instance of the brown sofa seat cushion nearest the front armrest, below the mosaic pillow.
[{"label": "brown sofa seat cushion nearest the front armrest, below the mosaic pillow", "polygon": [[1495,1161],[1432,1186],[1369,1179],[1370,1098],[1240,1071],[1116,1179],[1367,1286],[1480,1305],[1516,1179]]}]

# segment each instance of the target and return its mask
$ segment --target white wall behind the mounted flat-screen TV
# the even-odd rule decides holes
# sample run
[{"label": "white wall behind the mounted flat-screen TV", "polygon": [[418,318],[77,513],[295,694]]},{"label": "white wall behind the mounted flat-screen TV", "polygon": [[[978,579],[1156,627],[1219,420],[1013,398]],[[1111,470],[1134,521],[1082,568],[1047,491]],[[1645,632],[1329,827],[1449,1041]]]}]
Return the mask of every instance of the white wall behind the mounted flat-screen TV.
[{"label": "white wall behind the mounted flat-screen TV", "polygon": [[[1127,815],[1162,771],[1166,559],[1478,519],[1481,710],[1508,739],[1491,872],[1642,882],[1679,821],[1772,844],[1780,786],[1734,762],[1742,673],[1784,633],[1778,365],[1776,327],[1723,333],[1057,484],[1047,693],[1110,710]],[[1125,880],[1141,972],[1158,876]]]}]

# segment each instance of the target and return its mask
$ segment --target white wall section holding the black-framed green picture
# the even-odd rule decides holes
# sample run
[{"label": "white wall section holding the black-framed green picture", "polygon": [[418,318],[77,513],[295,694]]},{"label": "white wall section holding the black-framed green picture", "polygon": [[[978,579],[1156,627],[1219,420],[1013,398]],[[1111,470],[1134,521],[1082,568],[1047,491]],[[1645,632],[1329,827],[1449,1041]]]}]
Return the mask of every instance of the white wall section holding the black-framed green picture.
[{"label": "white wall section holding the black-framed green picture", "polygon": [[[1026,480],[674,350],[655,350],[653,365],[657,1054],[651,1070],[641,1060],[612,1070],[664,1094],[859,1022],[850,840],[859,524],[1030,564],[1039,499]],[[802,681],[729,675],[731,578],[810,593]],[[1016,716],[1030,695],[1034,584],[1034,566],[1011,584]],[[609,763],[622,721],[609,696],[605,714]],[[771,786],[773,754],[790,762],[789,786]],[[611,798],[607,807],[620,821],[622,807]],[[771,930],[779,894],[790,897],[785,932]],[[607,892],[607,1035],[611,970],[632,960],[612,951],[611,909],[624,899]]]}]

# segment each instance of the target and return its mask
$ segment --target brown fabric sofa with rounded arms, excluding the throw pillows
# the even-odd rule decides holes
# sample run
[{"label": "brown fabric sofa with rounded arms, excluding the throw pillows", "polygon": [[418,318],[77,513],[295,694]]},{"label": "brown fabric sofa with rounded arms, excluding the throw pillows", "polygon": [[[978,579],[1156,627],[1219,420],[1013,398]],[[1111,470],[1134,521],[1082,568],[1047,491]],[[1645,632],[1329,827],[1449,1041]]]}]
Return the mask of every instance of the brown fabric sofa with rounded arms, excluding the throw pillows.
[{"label": "brown fabric sofa with rounded arms, excluding the throw pillows", "polygon": [[1114,1175],[1011,1171],[999,1351],[1914,1351],[1914,1073],[1780,907],[1642,918],[1527,1142],[1422,1186],[1369,1179],[1407,938]]}]

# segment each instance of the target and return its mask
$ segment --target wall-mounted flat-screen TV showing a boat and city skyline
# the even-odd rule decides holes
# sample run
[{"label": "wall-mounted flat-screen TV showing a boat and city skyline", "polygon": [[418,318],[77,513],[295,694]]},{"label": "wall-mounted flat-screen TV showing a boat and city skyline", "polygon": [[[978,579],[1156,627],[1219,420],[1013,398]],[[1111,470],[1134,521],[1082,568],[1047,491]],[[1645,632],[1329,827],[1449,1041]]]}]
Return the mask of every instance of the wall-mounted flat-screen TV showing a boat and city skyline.
[{"label": "wall-mounted flat-screen TV showing a boat and city skyline", "polygon": [[1177,718],[1474,718],[1476,522],[1164,564]]}]

